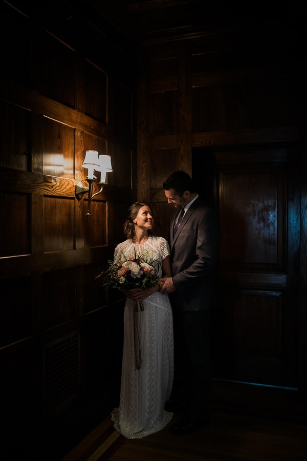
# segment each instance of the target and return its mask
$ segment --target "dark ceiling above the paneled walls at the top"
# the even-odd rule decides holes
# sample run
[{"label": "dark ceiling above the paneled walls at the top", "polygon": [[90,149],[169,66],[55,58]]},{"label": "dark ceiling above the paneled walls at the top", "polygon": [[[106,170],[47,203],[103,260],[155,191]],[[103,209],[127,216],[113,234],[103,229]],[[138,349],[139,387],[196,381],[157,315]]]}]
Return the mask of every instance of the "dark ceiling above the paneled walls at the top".
[{"label": "dark ceiling above the paneled walls at the top", "polygon": [[[229,0],[84,0],[92,18],[108,23],[138,45],[159,43],[225,30],[262,27],[262,25],[302,20],[303,2],[280,4],[230,2]],[[82,5],[82,0],[78,1]]]}]

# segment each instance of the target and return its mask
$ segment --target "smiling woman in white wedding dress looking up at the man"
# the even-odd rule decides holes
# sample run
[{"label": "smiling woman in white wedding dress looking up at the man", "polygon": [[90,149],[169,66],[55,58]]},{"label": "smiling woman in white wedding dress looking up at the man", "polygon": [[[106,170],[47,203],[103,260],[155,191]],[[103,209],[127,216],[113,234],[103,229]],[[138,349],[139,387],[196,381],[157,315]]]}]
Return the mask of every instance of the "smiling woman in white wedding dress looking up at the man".
[{"label": "smiling woman in white wedding dress looking up at the man", "polygon": [[[148,203],[133,203],[124,223],[127,240],[115,248],[114,262],[143,255],[155,261],[159,278],[171,277],[168,243],[163,237],[151,235],[152,225]],[[112,421],[126,438],[160,431],[173,414],[164,410],[172,389],[174,365],[172,310],[168,295],[160,293],[162,285],[159,281],[150,288],[125,292],[120,402],[112,411]]]}]

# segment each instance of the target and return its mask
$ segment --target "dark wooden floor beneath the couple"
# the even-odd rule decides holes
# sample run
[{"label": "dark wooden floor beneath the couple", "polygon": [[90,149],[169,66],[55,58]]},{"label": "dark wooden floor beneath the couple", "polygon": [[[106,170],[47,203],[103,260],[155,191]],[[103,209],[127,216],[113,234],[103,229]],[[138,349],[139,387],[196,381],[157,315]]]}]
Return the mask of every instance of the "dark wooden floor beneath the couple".
[{"label": "dark wooden floor beneath the couple", "polygon": [[93,399],[48,427],[33,429],[31,415],[4,425],[0,460],[307,461],[307,403],[298,401],[295,391],[216,382],[209,427],[172,435],[169,427],[180,418],[174,414],[160,432],[125,439],[109,415],[114,402],[106,411],[105,402]]}]

